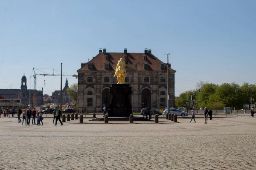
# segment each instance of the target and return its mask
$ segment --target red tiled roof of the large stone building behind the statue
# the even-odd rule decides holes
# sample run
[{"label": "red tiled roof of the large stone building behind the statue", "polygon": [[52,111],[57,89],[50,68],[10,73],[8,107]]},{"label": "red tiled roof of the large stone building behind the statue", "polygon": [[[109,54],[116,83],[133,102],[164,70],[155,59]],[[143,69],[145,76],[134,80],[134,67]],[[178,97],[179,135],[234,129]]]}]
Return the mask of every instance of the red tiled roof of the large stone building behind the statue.
[{"label": "red tiled roof of the large stone building behind the statue", "polygon": [[[106,59],[105,56],[108,56],[108,59]],[[131,68],[131,70],[139,70],[139,71],[164,71],[167,70],[167,64],[162,62],[160,59],[155,57],[151,53],[99,53],[91,59],[88,63],[84,63],[83,67],[78,70],[79,71],[114,71],[116,68],[116,64],[118,63],[118,60],[120,58],[123,58],[125,61],[125,56],[127,57],[127,64],[126,64],[126,70],[127,68]],[[146,59],[144,60],[144,56],[146,56]],[[92,63],[93,68],[89,69],[88,64]],[[105,69],[105,63],[109,63],[109,69]],[[148,69],[144,69],[143,65],[147,63]],[[160,64],[164,64],[165,68],[162,70],[160,69]],[[137,68],[135,67],[137,65]],[[128,71],[128,70],[127,70]],[[176,72],[175,70],[169,68],[169,71]]]}]

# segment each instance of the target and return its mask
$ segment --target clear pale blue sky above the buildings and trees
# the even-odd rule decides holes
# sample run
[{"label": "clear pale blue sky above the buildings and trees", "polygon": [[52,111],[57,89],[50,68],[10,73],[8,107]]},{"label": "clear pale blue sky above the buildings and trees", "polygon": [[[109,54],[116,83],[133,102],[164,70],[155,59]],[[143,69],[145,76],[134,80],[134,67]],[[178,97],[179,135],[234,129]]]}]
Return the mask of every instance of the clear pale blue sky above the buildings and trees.
[{"label": "clear pale blue sky above the buildings and trees", "polygon": [[[175,96],[199,81],[254,84],[255,9],[255,0],[0,0],[0,88],[20,88],[23,73],[30,88],[33,67],[63,62],[77,74],[104,47],[151,48],[163,62],[170,53]],[[60,89],[60,77],[37,81],[45,94]]]}]

